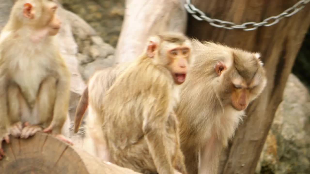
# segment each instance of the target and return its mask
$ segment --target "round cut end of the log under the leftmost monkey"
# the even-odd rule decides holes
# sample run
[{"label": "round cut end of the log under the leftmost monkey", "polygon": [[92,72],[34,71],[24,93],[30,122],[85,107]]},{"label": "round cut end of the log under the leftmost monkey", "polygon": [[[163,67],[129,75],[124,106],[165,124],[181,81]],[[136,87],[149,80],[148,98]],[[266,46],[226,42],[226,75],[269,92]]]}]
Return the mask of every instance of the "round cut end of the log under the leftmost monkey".
[{"label": "round cut end of the log under the leftmost monkey", "polygon": [[2,142],[6,156],[0,161],[0,173],[88,173],[78,153],[51,135],[10,138],[9,144]]}]

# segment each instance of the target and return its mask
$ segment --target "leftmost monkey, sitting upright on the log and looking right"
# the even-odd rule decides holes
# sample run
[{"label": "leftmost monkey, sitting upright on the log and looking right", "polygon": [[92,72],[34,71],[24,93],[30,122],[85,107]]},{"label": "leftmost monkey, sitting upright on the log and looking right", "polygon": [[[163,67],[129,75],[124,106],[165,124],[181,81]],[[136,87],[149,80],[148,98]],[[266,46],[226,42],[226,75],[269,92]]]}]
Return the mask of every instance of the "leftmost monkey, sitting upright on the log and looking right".
[{"label": "leftmost monkey, sitting upright on the log and looking right", "polygon": [[[0,141],[38,131],[62,135],[70,73],[57,47],[60,28],[52,0],[18,0],[0,36]],[[0,159],[4,155],[0,143]]]}]

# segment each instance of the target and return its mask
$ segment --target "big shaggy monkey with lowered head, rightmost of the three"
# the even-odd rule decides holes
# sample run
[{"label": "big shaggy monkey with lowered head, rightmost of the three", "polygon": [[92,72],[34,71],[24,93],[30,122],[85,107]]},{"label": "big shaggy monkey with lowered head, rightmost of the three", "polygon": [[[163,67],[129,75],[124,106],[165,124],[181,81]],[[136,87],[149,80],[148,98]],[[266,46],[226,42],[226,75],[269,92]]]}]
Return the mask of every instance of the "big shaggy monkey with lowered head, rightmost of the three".
[{"label": "big shaggy monkey with lowered head, rightmost of the three", "polygon": [[180,141],[188,172],[213,174],[244,110],[267,79],[259,53],[212,42],[192,44],[195,59],[176,110]]}]

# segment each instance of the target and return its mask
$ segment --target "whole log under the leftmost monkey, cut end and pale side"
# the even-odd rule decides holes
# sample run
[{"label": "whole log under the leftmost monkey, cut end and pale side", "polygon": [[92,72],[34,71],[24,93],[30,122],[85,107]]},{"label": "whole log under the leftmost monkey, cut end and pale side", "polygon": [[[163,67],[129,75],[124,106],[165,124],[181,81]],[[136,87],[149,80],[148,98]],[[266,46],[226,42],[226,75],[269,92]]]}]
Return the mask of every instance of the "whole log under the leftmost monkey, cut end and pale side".
[{"label": "whole log under the leftmost monkey, cut end and pale side", "polygon": [[28,139],[10,138],[10,144],[2,142],[6,156],[0,161],[1,174],[138,174],[45,133]]}]

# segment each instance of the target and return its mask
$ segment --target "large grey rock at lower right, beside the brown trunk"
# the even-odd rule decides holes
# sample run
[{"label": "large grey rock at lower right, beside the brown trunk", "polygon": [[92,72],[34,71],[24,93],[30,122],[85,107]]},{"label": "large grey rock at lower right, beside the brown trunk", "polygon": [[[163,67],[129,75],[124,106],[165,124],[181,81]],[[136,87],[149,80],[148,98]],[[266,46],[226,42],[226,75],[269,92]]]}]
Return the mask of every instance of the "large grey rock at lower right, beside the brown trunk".
[{"label": "large grey rock at lower right, beside the brown trunk", "polygon": [[291,74],[255,173],[310,173],[310,94]]}]

